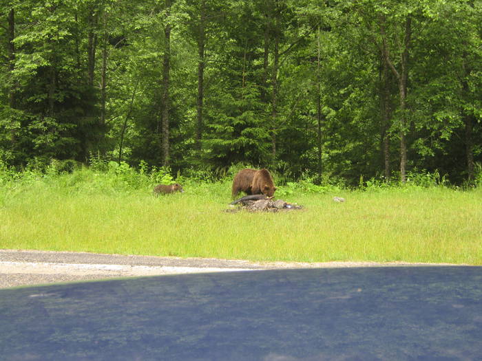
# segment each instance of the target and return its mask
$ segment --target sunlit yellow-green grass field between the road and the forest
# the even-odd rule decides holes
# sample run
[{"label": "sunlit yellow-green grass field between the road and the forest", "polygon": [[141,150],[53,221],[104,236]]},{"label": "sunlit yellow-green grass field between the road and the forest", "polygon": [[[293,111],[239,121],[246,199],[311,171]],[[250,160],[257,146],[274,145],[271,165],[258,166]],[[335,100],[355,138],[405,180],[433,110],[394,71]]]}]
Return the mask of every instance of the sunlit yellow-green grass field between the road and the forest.
[{"label": "sunlit yellow-green grass field between the road and the forest", "polygon": [[[0,203],[0,248],[253,261],[482,265],[482,192],[399,188],[284,197],[303,210],[224,212],[229,184],[85,192],[36,184]],[[344,203],[333,196],[345,197]]]}]

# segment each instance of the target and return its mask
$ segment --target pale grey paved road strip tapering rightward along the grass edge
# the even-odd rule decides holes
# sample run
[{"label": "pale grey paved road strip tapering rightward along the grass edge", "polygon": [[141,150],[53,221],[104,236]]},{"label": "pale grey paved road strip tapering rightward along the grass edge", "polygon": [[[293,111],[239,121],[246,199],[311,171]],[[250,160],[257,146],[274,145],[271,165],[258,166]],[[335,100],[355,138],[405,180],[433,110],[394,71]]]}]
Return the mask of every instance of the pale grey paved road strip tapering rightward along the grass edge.
[{"label": "pale grey paved road strip tapering rightward along the grass edge", "polygon": [[366,267],[408,263],[255,263],[223,259],[122,256],[85,252],[0,250],[0,288],[112,277],[153,276],[194,272],[308,267]]}]

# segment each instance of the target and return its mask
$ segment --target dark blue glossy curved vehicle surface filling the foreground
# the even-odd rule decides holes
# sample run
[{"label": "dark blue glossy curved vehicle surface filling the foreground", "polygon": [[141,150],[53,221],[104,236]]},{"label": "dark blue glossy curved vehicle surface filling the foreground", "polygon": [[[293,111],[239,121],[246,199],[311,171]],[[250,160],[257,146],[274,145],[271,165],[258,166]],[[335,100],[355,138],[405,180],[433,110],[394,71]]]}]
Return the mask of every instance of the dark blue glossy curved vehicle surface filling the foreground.
[{"label": "dark blue glossy curved vehicle surface filling the foreground", "polygon": [[481,360],[481,284],[338,267],[0,289],[0,360]]}]

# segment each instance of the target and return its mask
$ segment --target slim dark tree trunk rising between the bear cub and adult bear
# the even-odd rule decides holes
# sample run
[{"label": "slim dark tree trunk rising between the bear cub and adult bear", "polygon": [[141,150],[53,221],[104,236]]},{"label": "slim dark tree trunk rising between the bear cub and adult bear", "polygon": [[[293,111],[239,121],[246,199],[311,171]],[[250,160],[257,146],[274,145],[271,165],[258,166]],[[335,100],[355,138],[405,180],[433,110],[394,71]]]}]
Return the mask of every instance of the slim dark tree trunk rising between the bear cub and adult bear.
[{"label": "slim dark tree trunk rising between the bear cub and adult bear", "polygon": [[205,30],[205,0],[201,1],[200,6],[200,19],[199,19],[199,38],[198,38],[198,98],[197,98],[197,111],[198,111],[198,124],[196,127],[196,148],[201,150],[202,140],[202,103],[204,101],[204,72],[205,72],[205,43],[206,43],[206,30]]}]

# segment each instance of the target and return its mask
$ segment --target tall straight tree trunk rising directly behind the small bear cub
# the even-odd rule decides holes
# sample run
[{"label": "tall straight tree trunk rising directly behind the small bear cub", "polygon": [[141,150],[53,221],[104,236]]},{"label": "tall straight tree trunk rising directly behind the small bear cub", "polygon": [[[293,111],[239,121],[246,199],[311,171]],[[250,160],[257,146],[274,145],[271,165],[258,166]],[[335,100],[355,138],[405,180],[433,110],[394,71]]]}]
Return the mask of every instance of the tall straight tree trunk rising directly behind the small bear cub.
[{"label": "tall straight tree trunk rising directly behind the small bear cub", "polygon": [[[167,12],[171,8],[171,0],[166,0]],[[169,165],[169,72],[171,62],[171,24],[169,19],[164,28],[164,57],[163,57],[163,113],[161,125],[161,151],[163,166]]]}]

